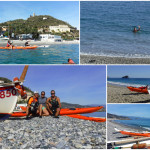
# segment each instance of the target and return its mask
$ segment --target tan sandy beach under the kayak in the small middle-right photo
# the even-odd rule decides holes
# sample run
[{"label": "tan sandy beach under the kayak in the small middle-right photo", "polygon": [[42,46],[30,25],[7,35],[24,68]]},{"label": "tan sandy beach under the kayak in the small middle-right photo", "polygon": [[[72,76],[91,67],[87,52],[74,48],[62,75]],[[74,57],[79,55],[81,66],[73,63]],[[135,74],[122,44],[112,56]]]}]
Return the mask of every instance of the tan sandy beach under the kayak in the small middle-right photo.
[{"label": "tan sandy beach under the kayak in the small middle-right photo", "polygon": [[126,87],[107,85],[108,103],[150,103],[150,95],[132,92]]}]

